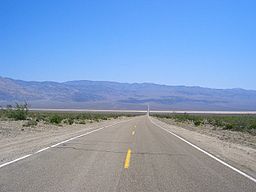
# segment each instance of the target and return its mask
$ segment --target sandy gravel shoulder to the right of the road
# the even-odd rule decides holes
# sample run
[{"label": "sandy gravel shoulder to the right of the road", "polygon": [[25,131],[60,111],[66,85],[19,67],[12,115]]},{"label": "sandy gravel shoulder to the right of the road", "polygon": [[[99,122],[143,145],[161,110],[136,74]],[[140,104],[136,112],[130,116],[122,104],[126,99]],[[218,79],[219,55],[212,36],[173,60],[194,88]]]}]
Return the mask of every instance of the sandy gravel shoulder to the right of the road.
[{"label": "sandy gravel shoulder to the right of the road", "polygon": [[214,127],[177,124],[165,118],[152,120],[256,178],[256,136]]}]

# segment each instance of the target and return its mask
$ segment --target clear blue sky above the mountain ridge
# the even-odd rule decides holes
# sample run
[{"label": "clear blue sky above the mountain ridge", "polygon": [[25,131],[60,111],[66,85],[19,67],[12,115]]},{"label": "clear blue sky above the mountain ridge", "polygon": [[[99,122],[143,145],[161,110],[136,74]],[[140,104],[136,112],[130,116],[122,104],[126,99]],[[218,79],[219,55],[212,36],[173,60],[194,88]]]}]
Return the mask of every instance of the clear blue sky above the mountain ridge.
[{"label": "clear blue sky above the mountain ridge", "polygon": [[256,89],[255,0],[0,1],[0,76]]}]

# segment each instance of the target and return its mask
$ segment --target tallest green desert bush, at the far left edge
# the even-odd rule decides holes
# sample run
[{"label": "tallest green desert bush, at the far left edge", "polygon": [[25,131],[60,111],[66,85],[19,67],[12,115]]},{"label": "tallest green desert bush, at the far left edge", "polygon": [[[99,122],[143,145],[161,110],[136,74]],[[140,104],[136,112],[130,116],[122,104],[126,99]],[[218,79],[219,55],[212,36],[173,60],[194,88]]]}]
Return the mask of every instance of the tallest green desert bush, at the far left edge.
[{"label": "tallest green desert bush, at the far left edge", "polygon": [[26,120],[28,116],[28,104],[18,104],[15,107],[8,105],[5,110],[6,116],[8,118],[18,120]]}]

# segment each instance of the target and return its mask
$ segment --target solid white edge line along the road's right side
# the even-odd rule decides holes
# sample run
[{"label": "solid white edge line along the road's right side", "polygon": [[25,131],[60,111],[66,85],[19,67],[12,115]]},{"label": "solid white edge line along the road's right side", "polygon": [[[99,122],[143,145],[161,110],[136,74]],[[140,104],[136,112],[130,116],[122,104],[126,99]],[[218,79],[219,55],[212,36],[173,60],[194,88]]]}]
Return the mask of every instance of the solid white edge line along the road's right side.
[{"label": "solid white edge line along the road's right side", "polygon": [[228,163],[226,163],[226,162],[220,160],[219,158],[215,157],[214,155],[208,153],[207,151],[201,149],[200,147],[194,145],[193,143],[190,143],[189,141],[185,140],[184,138],[180,137],[179,135],[176,135],[175,133],[169,131],[168,129],[163,128],[161,125],[158,125],[157,123],[153,122],[151,118],[149,118],[149,119],[150,119],[151,123],[153,123],[155,126],[157,126],[157,127],[161,128],[161,129],[165,130],[166,132],[168,132],[168,133],[172,134],[173,136],[179,138],[180,140],[184,141],[185,143],[189,144],[190,146],[194,147],[195,149],[197,149],[197,150],[201,151],[202,153],[208,155],[209,157],[215,159],[215,160],[218,161],[219,163],[221,163],[221,164],[227,166],[228,168],[232,169],[233,171],[235,171],[235,172],[237,172],[237,173],[243,175],[244,177],[246,177],[246,178],[248,178],[248,179],[250,179],[251,181],[253,181],[253,182],[256,183],[256,179],[253,178],[252,176],[250,176],[250,175],[244,173],[243,171],[240,171],[239,169],[237,169],[237,168],[235,168],[235,167],[229,165]]}]

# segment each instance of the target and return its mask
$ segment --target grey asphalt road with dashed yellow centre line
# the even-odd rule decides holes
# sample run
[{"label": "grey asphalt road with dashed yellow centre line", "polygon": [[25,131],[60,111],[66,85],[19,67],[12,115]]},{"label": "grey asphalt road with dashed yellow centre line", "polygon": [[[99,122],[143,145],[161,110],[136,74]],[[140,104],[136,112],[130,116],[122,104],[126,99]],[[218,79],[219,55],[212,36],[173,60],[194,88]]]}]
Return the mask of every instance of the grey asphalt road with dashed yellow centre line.
[{"label": "grey asphalt road with dashed yellow centre line", "polygon": [[0,191],[255,192],[256,183],[140,116],[3,166]]}]

